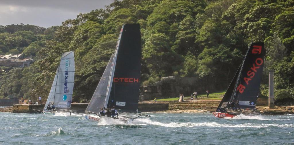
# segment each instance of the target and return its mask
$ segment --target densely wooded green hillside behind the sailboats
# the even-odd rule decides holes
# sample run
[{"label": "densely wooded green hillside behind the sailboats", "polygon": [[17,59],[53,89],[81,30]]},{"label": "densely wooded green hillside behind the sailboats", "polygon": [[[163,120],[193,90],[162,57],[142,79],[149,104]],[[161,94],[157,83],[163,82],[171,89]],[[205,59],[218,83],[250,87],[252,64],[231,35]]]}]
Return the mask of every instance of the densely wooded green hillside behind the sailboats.
[{"label": "densely wooded green hillside behind the sailboats", "polygon": [[[143,85],[176,75],[197,77],[208,89],[225,90],[249,43],[261,41],[267,49],[262,95],[267,96],[266,70],[275,69],[276,99],[293,98],[293,6],[293,0],[123,0],[114,1],[105,10],[79,14],[58,28],[35,27],[28,34],[25,28],[1,27],[3,53],[24,51],[36,59],[31,67],[6,74],[22,86],[15,89],[19,82],[1,80],[1,95],[46,98],[61,53],[74,50],[74,101],[90,99],[114,52],[122,24],[139,23]],[[4,47],[8,38],[19,40],[18,36],[31,41]]]}]

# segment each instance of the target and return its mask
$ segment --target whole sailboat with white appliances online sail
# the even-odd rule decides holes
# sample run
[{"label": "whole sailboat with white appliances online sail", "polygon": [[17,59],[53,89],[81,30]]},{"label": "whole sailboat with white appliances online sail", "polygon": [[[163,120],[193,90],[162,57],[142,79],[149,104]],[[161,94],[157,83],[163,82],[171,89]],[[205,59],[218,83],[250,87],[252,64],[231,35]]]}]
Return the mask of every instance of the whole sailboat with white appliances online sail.
[{"label": "whole sailboat with white appliances online sail", "polygon": [[74,51],[62,53],[45,107],[43,111],[34,111],[44,114],[55,113],[55,110],[49,110],[46,108],[48,105],[51,106],[52,104],[54,104],[56,110],[70,109],[74,89],[74,73]]}]

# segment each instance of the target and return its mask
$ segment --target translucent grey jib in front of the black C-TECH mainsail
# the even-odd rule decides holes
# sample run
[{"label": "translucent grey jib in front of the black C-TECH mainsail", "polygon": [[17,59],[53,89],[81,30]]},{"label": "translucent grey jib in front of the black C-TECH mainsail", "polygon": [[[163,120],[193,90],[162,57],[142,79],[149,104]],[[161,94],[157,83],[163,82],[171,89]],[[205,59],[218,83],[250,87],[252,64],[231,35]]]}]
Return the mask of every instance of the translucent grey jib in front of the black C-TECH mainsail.
[{"label": "translucent grey jib in front of the black C-TECH mainsail", "polygon": [[96,90],[90,100],[90,103],[86,109],[86,113],[88,111],[94,112],[94,113],[99,113],[100,109],[104,107],[105,103],[105,97],[106,97],[106,90],[107,90],[107,84],[109,82],[109,76],[110,76],[110,70],[111,70],[111,65],[113,61],[113,56],[111,56],[108,64],[106,65],[106,68],[103,72],[103,75],[96,87]]}]

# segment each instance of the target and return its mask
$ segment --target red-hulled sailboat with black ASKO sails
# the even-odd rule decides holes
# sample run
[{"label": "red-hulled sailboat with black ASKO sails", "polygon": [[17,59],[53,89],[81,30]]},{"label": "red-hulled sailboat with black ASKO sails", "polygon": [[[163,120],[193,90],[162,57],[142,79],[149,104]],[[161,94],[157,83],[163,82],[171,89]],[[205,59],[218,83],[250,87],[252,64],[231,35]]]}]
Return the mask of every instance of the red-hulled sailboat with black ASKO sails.
[{"label": "red-hulled sailboat with black ASKO sails", "polygon": [[[223,99],[216,111],[212,112],[215,117],[225,118],[234,117],[238,114],[256,114],[248,110],[254,109],[256,106],[265,53],[263,42],[251,43]],[[231,102],[233,104],[239,102],[239,106],[227,105]]]}]

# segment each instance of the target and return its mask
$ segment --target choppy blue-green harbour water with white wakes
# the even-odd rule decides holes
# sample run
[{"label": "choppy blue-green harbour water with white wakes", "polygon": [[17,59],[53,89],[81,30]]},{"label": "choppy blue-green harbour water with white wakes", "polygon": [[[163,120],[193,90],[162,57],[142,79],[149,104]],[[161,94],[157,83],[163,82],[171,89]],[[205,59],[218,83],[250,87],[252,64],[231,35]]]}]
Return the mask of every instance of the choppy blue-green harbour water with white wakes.
[{"label": "choppy blue-green harbour water with white wakes", "polygon": [[294,144],[294,115],[220,119],[155,113],[127,125],[82,116],[0,112],[0,144]]}]

